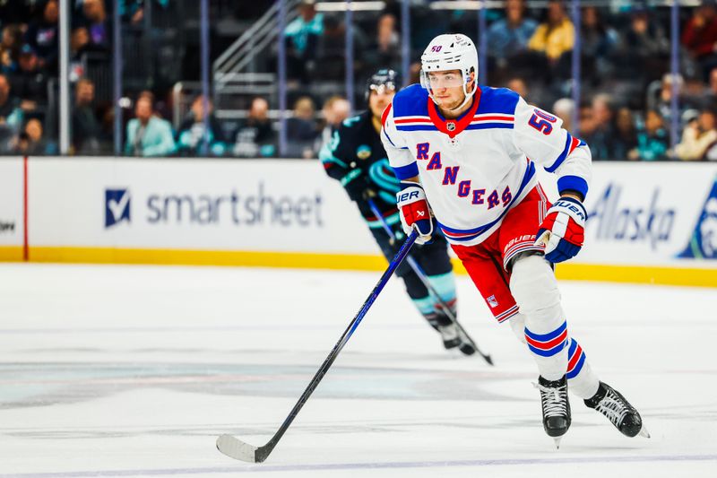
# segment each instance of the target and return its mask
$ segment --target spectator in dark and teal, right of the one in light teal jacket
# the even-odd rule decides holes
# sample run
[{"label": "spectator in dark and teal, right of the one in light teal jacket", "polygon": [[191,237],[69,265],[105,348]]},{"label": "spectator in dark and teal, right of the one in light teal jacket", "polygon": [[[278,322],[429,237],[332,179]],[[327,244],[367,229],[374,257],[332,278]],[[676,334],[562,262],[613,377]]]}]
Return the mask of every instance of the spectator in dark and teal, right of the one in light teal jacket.
[{"label": "spectator in dark and teal, right of the one in light teal jacket", "polygon": [[[192,101],[192,107],[177,132],[177,152],[181,156],[223,156],[227,151],[227,140],[221,124],[214,116],[212,100],[209,106],[209,134],[204,127],[204,96],[199,95]],[[205,149],[205,146],[208,145]]]}]

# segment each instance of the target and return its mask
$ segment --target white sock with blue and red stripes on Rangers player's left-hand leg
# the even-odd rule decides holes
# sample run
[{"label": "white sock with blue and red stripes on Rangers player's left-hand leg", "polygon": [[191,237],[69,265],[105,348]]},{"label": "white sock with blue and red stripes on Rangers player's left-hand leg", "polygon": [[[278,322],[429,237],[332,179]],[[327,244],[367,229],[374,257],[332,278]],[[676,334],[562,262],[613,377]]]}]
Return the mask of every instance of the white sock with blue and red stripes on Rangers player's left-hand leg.
[{"label": "white sock with blue and red stripes on Rangers player's left-hand leg", "polygon": [[540,376],[547,380],[562,378],[567,369],[567,323],[548,262],[542,256],[517,259],[510,291],[525,317],[525,341]]}]

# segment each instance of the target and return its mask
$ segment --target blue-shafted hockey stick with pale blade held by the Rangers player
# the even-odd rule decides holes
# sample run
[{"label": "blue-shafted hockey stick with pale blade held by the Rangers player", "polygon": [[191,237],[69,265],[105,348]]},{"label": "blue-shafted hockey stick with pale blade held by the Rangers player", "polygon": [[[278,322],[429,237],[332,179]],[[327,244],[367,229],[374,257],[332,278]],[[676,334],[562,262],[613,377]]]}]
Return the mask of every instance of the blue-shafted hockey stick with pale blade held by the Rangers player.
[{"label": "blue-shafted hockey stick with pale blade held by the Rangers player", "polygon": [[353,320],[351,320],[349,326],[346,328],[346,331],[344,331],[343,335],[341,335],[339,342],[337,342],[333,346],[333,349],[329,353],[329,356],[326,357],[324,363],[322,363],[321,367],[318,369],[318,371],[316,371],[316,374],[314,378],[311,379],[311,382],[309,382],[307,389],[304,390],[303,394],[301,394],[297,404],[295,404],[294,408],[291,409],[289,416],[286,417],[286,420],[284,420],[283,423],[281,423],[281,427],[279,427],[279,430],[274,433],[272,439],[270,439],[266,443],[266,445],[263,445],[263,447],[257,448],[231,435],[221,435],[217,439],[217,448],[221,453],[226,456],[230,456],[232,458],[243,460],[249,463],[262,463],[266,459],[266,457],[272,453],[272,450],[274,449],[274,447],[276,447],[276,444],[279,443],[281,437],[284,435],[284,433],[286,433],[286,430],[289,429],[289,425],[291,425],[291,422],[293,422],[294,419],[297,417],[298,412],[301,410],[301,407],[303,407],[304,404],[307,403],[309,396],[314,393],[314,390],[319,385],[319,382],[321,382],[321,379],[324,378],[326,372],[329,370],[329,368],[331,368],[333,361],[336,360],[336,357],[339,355],[339,352],[341,352],[343,346],[346,345],[347,342],[349,342],[351,335],[353,335],[354,331],[358,327],[358,324],[361,323],[361,319],[363,319],[363,317],[366,315],[368,309],[371,308],[371,305],[374,303],[374,300],[376,300],[376,297],[378,297],[378,294],[384,289],[384,285],[386,284],[386,282],[388,282],[388,280],[391,278],[396,268],[401,265],[403,259],[406,258],[410,248],[416,242],[416,238],[418,237],[419,234],[415,230],[410,233],[410,236],[403,243],[401,249],[399,249],[396,256],[393,257],[393,261],[391,261],[391,264],[388,265],[388,269],[386,269],[384,275],[382,275],[381,279],[379,279],[378,283],[376,283],[376,287],[374,287],[374,290],[371,291],[371,293],[368,295],[367,300],[364,302],[364,305],[361,306],[360,310],[358,310],[358,314],[356,314],[356,317],[353,317]]}]

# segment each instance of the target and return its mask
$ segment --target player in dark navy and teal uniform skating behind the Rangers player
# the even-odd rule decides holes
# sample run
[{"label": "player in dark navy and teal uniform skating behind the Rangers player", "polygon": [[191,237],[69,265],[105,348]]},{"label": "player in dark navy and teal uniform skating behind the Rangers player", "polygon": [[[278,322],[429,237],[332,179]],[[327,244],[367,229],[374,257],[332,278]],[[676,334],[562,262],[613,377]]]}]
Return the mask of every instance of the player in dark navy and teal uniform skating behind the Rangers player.
[{"label": "player in dark navy and teal uniform skating behind the Rangers player", "polygon": [[[395,256],[405,235],[396,209],[396,193],[401,187],[388,164],[379,133],[381,114],[391,103],[399,85],[398,74],[393,70],[379,70],[372,75],[366,89],[367,111],[344,120],[333,132],[331,141],[324,144],[319,153],[326,173],[341,182],[389,261]],[[389,237],[371,211],[369,199],[373,200],[385,222],[393,230],[395,241]],[[435,227],[434,230],[438,228]],[[435,234],[432,242],[415,246],[411,255],[428,275],[434,289],[451,308],[455,317],[455,280],[445,238]],[[431,297],[426,286],[408,264],[404,262],[396,274],[405,282],[406,291],[416,308],[426,317],[428,324],[441,334],[446,349],[458,347],[466,355],[475,352],[469,338],[454,325],[439,301]]]}]

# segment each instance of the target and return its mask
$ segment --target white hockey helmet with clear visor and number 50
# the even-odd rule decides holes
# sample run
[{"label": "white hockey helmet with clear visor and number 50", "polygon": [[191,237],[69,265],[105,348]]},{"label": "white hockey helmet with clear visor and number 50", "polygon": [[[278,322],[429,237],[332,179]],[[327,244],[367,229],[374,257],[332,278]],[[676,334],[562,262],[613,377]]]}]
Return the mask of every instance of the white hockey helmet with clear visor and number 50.
[{"label": "white hockey helmet with clear visor and number 50", "polygon": [[460,33],[438,35],[431,40],[420,56],[420,84],[428,90],[428,95],[434,102],[436,99],[433,98],[428,74],[448,70],[460,70],[462,74],[465,99],[461,106],[456,108],[460,109],[471,100],[471,95],[475,91],[475,87],[471,92],[467,89],[468,84],[471,83],[471,72],[475,74],[472,79],[478,81],[478,51],[473,41],[465,35]]}]

